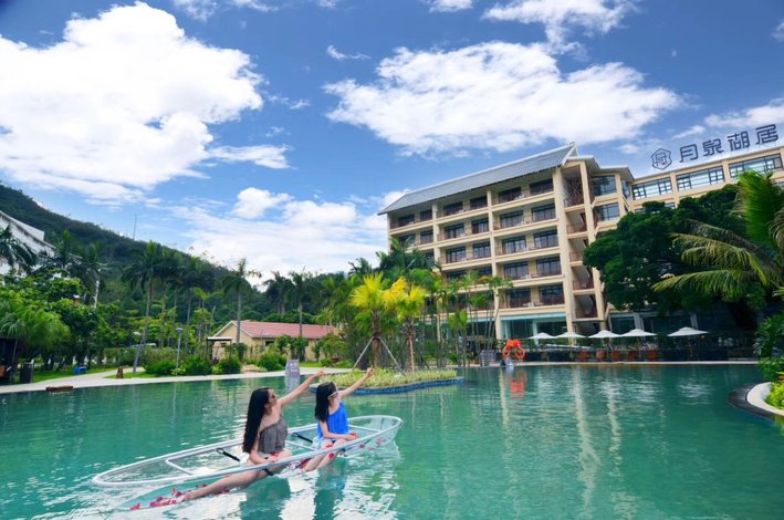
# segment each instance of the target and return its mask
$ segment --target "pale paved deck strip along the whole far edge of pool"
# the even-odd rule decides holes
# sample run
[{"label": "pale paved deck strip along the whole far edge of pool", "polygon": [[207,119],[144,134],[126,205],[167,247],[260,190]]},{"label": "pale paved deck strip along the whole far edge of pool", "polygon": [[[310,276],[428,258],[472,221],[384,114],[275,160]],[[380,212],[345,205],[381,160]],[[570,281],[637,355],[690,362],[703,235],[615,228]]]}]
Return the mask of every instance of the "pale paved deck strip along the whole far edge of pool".
[{"label": "pale paved deck strip along the whole far edge of pool", "polygon": [[[640,365],[640,366],[676,366],[676,365],[749,365],[756,364],[756,361],[691,361],[691,362],[615,362],[615,363],[592,363],[592,362],[581,362],[581,363],[566,363],[566,362],[524,362],[518,363],[516,366],[564,366],[564,365],[598,365],[598,366],[617,366],[617,365]],[[456,366],[450,366],[450,368],[457,368]],[[499,363],[492,363],[490,366],[480,367],[479,365],[471,365],[470,368],[489,370],[499,368]],[[321,368],[302,368],[302,375],[311,375],[318,372]],[[341,374],[348,372],[347,368],[324,368],[327,374]],[[73,386],[76,388],[96,388],[102,386],[123,386],[123,385],[148,385],[156,383],[190,383],[199,381],[221,381],[221,379],[255,379],[264,377],[284,377],[285,371],[276,372],[243,372],[241,374],[226,374],[226,375],[185,375],[185,376],[170,376],[170,377],[133,377],[127,379],[115,379],[107,378],[117,373],[116,368],[106,372],[96,372],[93,374],[82,374],[73,375],[69,377],[60,377],[56,379],[41,381],[39,383],[24,383],[24,384],[13,384],[13,385],[2,385],[0,386],[1,394],[15,394],[21,392],[45,392],[48,386]],[[129,370],[125,370],[128,374]]]}]

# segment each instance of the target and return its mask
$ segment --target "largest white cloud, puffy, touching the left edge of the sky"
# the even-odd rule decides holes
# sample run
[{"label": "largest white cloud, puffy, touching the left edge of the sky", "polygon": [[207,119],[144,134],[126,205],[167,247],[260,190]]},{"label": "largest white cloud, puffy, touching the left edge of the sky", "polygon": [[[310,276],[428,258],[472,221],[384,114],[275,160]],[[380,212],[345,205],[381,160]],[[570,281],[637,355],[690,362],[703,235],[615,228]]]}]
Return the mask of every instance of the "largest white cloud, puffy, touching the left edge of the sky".
[{"label": "largest white cloud, puffy, touching the left edge of the sky", "polygon": [[285,165],[282,147],[208,149],[208,125],[261,108],[261,77],[147,4],[73,19],[48,48],[0,38],[0,169],[20,183],[129,202],[210,154]]}]

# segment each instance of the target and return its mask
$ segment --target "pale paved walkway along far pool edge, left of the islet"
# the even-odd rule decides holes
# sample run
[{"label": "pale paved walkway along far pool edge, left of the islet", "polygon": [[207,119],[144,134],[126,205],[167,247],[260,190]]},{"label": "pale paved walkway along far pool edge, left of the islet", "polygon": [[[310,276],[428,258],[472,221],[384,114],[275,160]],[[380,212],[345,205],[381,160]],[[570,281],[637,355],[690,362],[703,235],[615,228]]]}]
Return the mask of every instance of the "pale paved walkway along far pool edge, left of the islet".
[{"label": "pale paved walkway along far pool edge, left of the islet", "polygon": [[[318,372],[321,368],[301,368],[302,375],[311,375]],[[345,368],[324,368],[330,374],[339,374],[348,372]],[[126,368],[128,374],[130,370]],[[189,383],[195,381],[215,381],[215,379],[253,379],[263,377],[283,377],[285,371],[278,372],[243,372],[242,374],[226,374],[226,375],[184,375],[169,377],[133,377],[128,379],[107,378],[117,373],[117,368],[106,372],[96,372],[93,374],[73,375],[69,377],[60,377],[56,379],[41,381],[39,383],[24,383],[0,386],[0,394],[15,394],[19,392],[43,392],[48,386],[73,386],[74,388],[95,388],[98,386],[121,386],[121,385],[148,385],[154,383]]]}]

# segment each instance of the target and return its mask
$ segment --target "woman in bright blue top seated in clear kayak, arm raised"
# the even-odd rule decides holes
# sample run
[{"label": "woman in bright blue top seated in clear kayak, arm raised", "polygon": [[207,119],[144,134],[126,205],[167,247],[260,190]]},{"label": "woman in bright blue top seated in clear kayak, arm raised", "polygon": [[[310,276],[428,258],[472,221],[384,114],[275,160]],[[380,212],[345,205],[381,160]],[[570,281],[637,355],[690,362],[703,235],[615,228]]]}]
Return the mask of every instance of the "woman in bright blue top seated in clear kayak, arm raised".
[{"label": "woman in bright blue top seated in clear kayak, arm raised", "polygon": [[[373,375],[373,367],[365,372],[365,375],[356,383],[344,391],[338,391],[335,383],[322,383],[316,388],[316,438],[314,443],[318,449],[334,448],[349,440],[356,439],[357,435],[348,428],[348,414],[343,399],[354,393]],[[305,471],[323,468],[332,462],[336,451],[313,457],[303,468]]]}]

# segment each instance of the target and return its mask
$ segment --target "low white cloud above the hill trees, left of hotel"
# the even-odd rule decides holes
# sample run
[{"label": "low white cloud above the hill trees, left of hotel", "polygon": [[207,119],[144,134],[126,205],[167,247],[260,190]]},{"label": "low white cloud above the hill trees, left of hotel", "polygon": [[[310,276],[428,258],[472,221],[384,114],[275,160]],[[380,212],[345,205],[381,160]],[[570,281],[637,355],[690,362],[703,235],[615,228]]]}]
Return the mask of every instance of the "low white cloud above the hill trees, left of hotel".
[{"label": "low white cloud above the hill trees, left of hotel", "polygon": [[[262,191],[244,190],[238,198],[269,201],[282,195]],[[349,261],[374,259],[386,248],[386,220],[375,215],[377,206],[289,199],[275,209],[260,219],[239,218],[236,209],[220,215],[205,205],[175,208],[175,214],[192,239],[189,250],[226,266],[247,258],[251,269],[266,273],[346,271]]]}]

